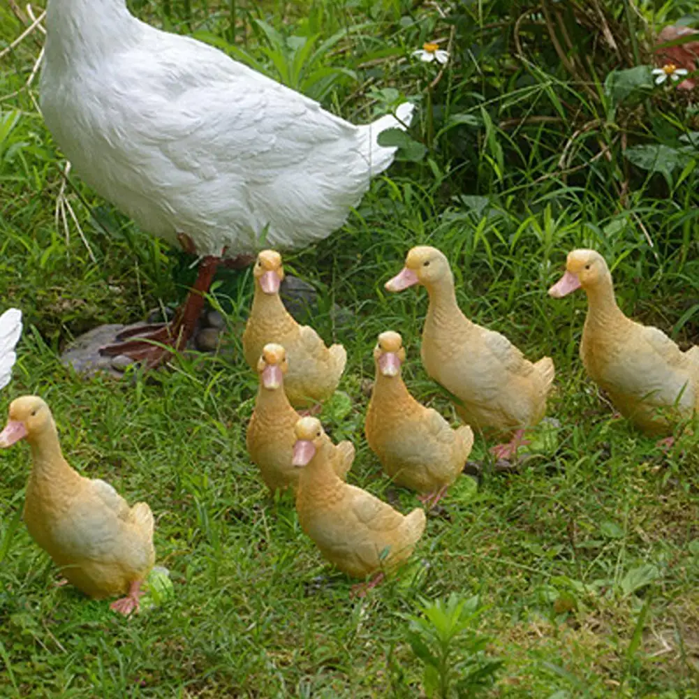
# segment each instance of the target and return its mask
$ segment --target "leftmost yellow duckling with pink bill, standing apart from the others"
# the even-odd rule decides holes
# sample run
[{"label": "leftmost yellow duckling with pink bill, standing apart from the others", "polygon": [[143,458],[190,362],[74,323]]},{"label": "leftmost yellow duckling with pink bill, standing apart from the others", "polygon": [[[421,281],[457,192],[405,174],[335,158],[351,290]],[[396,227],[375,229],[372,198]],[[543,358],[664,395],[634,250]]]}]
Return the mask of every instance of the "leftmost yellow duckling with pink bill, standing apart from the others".
[{"label": "leftmost yellow duckling with pink bill, standing apart from the others", "polygon": [[110,606],[138,609],[140,585],[155,560],[153,514],[146,503],[129,507],[110,484],[81,476],[63,458],[48,405],[37,396],[10,404],[0,447],[26,439],[34,463],[27,482],[24,522],[68,582],[101,599],[127,594]]}]

